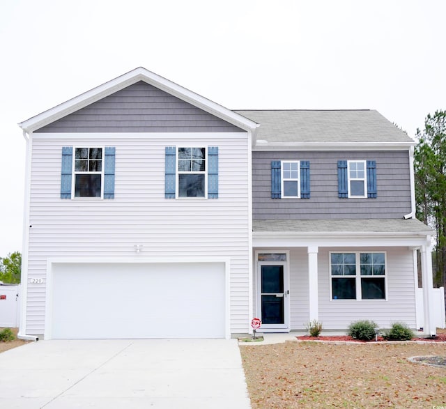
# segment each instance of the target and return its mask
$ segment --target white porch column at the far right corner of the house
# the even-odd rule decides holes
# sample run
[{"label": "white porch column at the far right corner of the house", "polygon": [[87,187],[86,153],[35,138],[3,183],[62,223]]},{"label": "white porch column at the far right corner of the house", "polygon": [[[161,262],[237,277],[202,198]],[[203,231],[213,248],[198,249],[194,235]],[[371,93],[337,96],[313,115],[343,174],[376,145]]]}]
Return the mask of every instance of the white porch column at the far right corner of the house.
[{"label": "white porch column at the far right corner of the house", "polygon": [[435,335],[437,330],[433,324],[433,278],[432,278],[432,253],[430,236],[428,245],[423,245],[421,251],[421,272],[423,279],[423,310],[424,327],[423,332],[428,335]]}]

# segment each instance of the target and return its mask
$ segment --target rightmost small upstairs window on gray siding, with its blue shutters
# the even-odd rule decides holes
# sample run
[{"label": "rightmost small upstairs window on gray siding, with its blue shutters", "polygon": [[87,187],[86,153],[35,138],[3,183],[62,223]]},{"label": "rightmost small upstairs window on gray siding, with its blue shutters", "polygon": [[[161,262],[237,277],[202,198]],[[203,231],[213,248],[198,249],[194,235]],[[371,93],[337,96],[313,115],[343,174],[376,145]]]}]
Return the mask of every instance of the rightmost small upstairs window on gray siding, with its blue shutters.
[{"label": "rightmost small upstairs window on gray siding, with its blue shutters", "polygon": [[376,161],[339,160],[337,162],[338,197],[375,199]]}]

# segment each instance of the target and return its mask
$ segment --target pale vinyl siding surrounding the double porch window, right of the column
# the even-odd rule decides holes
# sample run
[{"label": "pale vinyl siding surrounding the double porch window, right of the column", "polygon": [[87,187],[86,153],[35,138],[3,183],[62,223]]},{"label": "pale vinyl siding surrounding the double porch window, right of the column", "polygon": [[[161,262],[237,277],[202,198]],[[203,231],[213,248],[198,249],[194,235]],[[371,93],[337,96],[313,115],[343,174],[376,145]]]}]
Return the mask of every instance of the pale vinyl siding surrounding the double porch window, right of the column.
[{"label": "pale vinyl siding surrounding the double porch window, right of the column", "polygon": [[[339,251],[336,249],[335,251]],[[342,249],[344,251],[344,249]],[[387,253],[386,300],[330,300],[330,249],[318,253],[319,321],[324,330],[344,330],[353,321],[372,320],[380,328],[394,322],[416,327],[415,274],[413,252],[407,247],[362,247],[346,249],[352,252],[383,251]]]}]

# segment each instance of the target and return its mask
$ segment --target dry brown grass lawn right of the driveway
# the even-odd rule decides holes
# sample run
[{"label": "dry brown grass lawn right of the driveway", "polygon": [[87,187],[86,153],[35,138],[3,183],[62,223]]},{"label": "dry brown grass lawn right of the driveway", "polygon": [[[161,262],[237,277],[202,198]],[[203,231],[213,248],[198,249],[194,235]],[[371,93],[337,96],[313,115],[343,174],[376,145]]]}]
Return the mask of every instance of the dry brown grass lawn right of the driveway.
[{"label": "dry brown grass lawn right of the driveway", "polygon": [[446,343],[241,345],[253,409],[446,408]]}]

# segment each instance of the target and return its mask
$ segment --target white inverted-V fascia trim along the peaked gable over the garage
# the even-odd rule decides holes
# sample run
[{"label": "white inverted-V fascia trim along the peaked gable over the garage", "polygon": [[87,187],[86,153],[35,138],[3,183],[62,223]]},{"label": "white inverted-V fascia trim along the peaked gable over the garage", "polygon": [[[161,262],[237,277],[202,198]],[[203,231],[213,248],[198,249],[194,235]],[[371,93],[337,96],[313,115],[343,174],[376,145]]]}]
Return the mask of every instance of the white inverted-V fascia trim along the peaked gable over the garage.
[{"label": "white inverted-V fascia trim along the peaked gable over the garage", "polygon": [[32,118],[19,123],[19,126],[23,130],[26,130],[26,132],[33,132],[33,130],[43,128],[43,126],[57,121],[58,119],[63,118],[63,116],[72,114],[73,112],[82,109],[95,101],[105,98],[107,95],[111,95],[112,93],[120,91],[126,86],[130,86],[139,81],[144,81],[155,86],[156,88],[160,88],[162,91],[170,93],[171,95],[174,95],[185,102],[189,102],[190,104],[199,107],[210,114],[218,116],[219,118],[222,118],[244,130],[255,130],[258,126],[257,123],[245,118],[245,116],[236,114],[236,112],[222,107],[222,105],[218,105],[217,103],[208,100],[197,93],[189,91],[183,86],[175,84],[174,82],[171,82],[168,79],[142,67],[135,68],[134,70],[127,72],[120,77],[112,79],[105,84],[97,86],[90,91],[86,91],[81,95],[77,95],[75,98],[63,102],[60,105],[56,105],[56,107],[33,116]]}]

